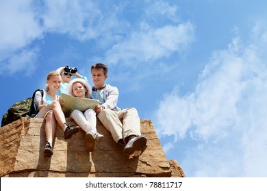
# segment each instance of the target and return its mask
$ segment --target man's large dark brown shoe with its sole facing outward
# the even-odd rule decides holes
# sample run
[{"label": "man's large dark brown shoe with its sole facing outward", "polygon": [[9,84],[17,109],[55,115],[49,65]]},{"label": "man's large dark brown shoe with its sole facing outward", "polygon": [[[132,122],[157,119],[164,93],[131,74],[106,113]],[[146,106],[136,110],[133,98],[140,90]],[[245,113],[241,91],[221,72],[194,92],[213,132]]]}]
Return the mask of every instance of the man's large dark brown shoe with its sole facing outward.
[{"label": "man's large dark brown shoe with its sole facing outward", "polygon": [[123,153],[127,156],[132,155],[136,151],[143,151],[147,145],[147,138],[144,136],[133,136],[129,139],[125,148],[123,149]]}]

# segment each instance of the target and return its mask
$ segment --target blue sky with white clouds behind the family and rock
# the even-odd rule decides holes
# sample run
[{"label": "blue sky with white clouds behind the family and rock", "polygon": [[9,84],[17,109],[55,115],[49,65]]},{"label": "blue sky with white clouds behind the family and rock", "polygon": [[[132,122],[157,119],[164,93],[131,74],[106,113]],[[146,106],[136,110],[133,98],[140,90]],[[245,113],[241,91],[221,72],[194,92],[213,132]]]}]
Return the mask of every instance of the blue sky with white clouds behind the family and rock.
[{"label": "blue sky with white clouds behind the family and rock", "polygon": [[[267,176],[267,1],[0,1],[0,115],[69,65],[109,66],[188,177]],[[92,84],[92,83],[91,83]]]}]

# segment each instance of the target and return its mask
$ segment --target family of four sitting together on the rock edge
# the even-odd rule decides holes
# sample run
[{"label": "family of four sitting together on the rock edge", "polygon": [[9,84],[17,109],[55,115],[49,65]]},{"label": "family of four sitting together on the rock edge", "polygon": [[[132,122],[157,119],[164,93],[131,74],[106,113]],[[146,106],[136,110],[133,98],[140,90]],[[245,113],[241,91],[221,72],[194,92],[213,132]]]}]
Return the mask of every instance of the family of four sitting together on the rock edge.
[{"label": "family of four sitting together on the rock edge", "polygon": [[[97,132],[97,118],[103,126],[111,133],[114,141],[124,145],[123,153],[127,156],[135,151],[144,151],[147,138],[141,135],[140,118],[136,108],[120,109],[118,103],[118,88],[105,84],[107,79],[107,65],[96,63],[91,66],[92,87],[85,76],[77,72],[77,68],[67,66],[58,68],[47,75],[47,87],[43,95],[36,92],[34,104],[38,108],[35,118],[45,119],[46,145],[44,156],[53,155],[53,138],[57,123],[64,132],[64,138],[68,139],[79,132],[80,128],[86,132],[85,142],[88,151],[94,151],[96,143],[101,143],[104,136]],[[72,76],[76,78],[72,79]],[[60,93],[66,93],[77,98],[88,98],[99,100],[99,105],[85,112],[77,109],[72,111],[70,117],[77,126],[66,123],[60,100]]]}]

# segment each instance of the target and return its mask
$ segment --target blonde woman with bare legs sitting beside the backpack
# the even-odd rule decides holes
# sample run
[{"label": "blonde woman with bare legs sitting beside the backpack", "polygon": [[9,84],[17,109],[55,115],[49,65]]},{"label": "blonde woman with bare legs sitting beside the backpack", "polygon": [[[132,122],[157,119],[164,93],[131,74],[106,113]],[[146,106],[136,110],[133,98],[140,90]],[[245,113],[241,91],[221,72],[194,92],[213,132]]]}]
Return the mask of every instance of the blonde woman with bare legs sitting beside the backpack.
[{"label": "blonde woman with bare legs sitting beside the backpack", "polygon": [[61,87],[61,83],[62,78],[60,74],[56,71],[50,72],[47,75],[47,87],[44,90],[43,98],[40,91],[36,92],[34,98],[34,104],[36,104],[40,111],[35,118],[45,119],[45,135],[47,143],[44,148],[44,156],[47,157],[53,155],[52,143],[57,122],[64,131],[65,139],[71,138],[73,134],[79,132],[79,127],[69,126],[68,123],[66,123],[64,113],[61,109],[59,96],[56,95],[56,92]]}]

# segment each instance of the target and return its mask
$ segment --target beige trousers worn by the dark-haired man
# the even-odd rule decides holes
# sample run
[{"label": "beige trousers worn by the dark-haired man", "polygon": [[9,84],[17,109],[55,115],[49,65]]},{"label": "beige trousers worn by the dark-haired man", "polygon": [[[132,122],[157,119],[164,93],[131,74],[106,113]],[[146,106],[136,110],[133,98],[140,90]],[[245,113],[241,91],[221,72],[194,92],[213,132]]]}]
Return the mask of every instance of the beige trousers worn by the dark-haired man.
[{"label": "beige trousers worn by the dark-haired man", "polygon": [[116,143],[129,135],[140,136],[140,118],[136,108],[126,108],[120,111],[104,109],[97,115],[103,126],[112,134]]}]

